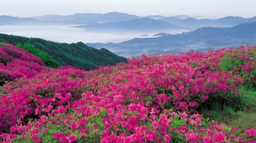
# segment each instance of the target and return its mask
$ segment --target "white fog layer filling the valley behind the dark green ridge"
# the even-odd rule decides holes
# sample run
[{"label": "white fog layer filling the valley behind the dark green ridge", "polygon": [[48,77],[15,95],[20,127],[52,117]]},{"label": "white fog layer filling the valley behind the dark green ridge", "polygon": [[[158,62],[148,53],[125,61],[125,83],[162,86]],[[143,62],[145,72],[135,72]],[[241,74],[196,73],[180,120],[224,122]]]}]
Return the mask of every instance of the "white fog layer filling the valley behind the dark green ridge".
[{"label": "white fog layer filling the valley behind the dark green ridge", "polygon": [[[7,25],[0,26],[0,33],[12,34],[26,37],[37,37],[45,40],[56,41],[60,43],[120,43],[136,37],[153,37],[156,33],[135,33],[135,32],[89,32],[83,28],[71,27],[74,25],[64,26],[24,26],[24,25]],[[171,30],[166,33],[182,33],[188,30]]]}]

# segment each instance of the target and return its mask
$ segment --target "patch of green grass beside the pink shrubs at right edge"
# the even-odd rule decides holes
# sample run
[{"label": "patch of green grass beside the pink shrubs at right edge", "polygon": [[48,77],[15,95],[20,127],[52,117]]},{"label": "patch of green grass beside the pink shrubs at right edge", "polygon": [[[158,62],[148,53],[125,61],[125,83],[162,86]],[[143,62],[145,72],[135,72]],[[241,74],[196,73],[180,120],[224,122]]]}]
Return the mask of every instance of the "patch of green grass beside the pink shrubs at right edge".
[{"label": "patch of green grass beside the pink shrubs at right edge", "polygon": [[249,129],[256,127],[256,89],[241,90],[244,106],[236,110],[231,106],[218,106],[212,109],[211,119],[229,127]]}]

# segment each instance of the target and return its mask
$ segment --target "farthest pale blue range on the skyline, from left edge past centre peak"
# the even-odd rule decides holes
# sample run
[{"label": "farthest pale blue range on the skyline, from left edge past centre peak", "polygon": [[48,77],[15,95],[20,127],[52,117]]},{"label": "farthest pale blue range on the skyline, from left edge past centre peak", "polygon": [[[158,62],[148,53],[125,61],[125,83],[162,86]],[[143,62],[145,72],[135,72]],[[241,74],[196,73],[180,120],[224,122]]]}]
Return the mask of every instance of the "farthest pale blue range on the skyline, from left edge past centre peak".
[{"label": "farthest pale blue range on the skyline, from left edge past centre peak", "polygon": [[[14,16],[0,16],[0,25],[69,25],[69,24],[87,24],[87,23],[108,23],[117,21],[128,21],[136,18],[142,18],[127,13],[109,12],[109,13],[76,13],[74,15],[44,15],[38,17],[20,18]],[[161,16],[160,18],[163,18]]]}]

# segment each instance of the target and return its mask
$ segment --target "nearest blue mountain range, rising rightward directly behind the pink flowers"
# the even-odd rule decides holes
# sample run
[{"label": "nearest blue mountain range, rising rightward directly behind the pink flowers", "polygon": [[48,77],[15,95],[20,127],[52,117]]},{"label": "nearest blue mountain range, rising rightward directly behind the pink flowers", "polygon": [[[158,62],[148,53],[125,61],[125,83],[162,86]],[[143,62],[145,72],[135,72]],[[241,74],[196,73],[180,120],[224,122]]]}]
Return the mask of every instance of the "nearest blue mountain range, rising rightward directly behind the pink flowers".
[{"label": "nearest blue mountain range, rising rightward directly behind the pink flowers", "polygon": [[[159,33],[151,38],[134,38],[121,43],[87,43],[95,48],[112,49],[117,55],[131,57],[142,53],[177,53],[188,49],[234,47],[256,44],[256,22],[243,23],[230,28],[203,27],[181,34]],[[183,47],[183,48],[181,48]]]}]

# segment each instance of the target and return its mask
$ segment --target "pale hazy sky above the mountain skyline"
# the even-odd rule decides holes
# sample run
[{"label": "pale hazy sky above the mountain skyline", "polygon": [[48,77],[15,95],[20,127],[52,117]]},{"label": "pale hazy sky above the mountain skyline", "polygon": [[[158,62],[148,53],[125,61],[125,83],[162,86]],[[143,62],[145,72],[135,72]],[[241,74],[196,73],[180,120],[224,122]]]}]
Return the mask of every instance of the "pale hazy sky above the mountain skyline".
[{"label": "pale hazy sky above the mountain skyline", "polygon": [[0,15],[19,17],[114,11],[139,16],[256,16],[256,0],[0,0],[0,5]]}]

